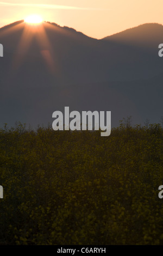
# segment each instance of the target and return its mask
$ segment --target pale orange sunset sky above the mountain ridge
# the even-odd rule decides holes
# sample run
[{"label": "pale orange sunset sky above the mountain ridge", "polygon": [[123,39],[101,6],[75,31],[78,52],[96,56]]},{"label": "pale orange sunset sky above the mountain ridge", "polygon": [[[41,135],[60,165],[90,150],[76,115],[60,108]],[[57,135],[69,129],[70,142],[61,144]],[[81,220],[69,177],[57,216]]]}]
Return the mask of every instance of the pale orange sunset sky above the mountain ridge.
[{"label": "pale orange sunset sky above the mountain ridge", "polygon": [[162,0],[0,1],[0,27],[31,14],[103,38],[143,23],[163,23]]}]

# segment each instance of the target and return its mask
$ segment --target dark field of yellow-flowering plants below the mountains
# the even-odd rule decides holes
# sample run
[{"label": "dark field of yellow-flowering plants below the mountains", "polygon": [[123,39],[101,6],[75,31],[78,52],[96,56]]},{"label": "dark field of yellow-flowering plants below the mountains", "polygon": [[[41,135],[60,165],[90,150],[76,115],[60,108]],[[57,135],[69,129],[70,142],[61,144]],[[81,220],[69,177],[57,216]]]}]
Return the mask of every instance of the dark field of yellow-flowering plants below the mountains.
[{"label": "dark field of yellow-flowering plants below the mountains", "polygon": [[0,130],[0,245],[163,244],[159,124]]}]

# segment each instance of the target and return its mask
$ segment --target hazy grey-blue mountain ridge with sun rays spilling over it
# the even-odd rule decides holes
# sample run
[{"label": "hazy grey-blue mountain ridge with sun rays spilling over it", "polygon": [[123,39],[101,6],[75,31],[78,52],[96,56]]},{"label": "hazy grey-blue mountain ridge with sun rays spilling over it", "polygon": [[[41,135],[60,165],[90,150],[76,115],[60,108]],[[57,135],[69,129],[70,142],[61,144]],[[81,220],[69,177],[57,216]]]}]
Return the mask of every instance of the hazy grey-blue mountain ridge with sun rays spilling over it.
[{"label": "hazy grey-blue mountain ridge with sun rays spilling over it", "polygon": [[52,123],[55,110],[111,111],[112,126],[162,114],[163,26],[127,29],[101,40],[55,23],[23,21],[0,29],[1,121]]}]

